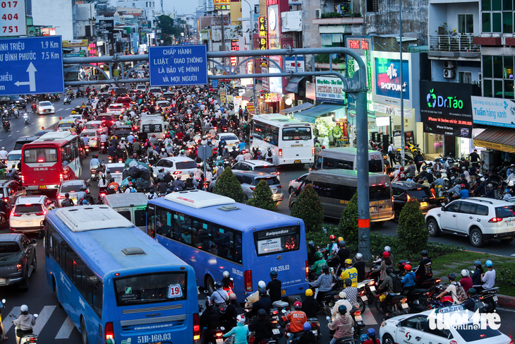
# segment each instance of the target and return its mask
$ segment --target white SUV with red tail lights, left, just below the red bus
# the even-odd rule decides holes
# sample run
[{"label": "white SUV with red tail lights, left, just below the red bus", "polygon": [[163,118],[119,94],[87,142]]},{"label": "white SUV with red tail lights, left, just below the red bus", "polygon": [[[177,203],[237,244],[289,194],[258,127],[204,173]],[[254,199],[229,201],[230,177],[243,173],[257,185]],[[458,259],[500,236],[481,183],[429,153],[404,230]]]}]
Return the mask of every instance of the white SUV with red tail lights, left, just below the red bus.
[{"label": "white SUV with red tail lights, left, just below the red bus", "polygon": [[50,206],[55,201],[50,201],[47,196],[33,195],[21,196],[16,199],[13,211],[9,217],[9,227],[13,233],[37,232],[40,239],[43,237],[44,228],[42,221]]}]

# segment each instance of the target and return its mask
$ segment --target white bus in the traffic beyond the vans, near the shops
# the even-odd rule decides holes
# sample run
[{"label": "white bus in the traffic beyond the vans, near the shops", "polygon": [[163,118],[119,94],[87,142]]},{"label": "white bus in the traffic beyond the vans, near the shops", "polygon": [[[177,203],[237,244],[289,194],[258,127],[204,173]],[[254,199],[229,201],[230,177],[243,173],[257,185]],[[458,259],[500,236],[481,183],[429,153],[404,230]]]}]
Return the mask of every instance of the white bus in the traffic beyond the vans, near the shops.
[{"label": "white bus in the traffic beyond the vans, near the shops", "polygon": [[262,155],[272,148],[272,163],[276,166],[313,162],[311,124],[283,114],[260,114],[252,119],[250,135],[250,147],[259,148]]}]

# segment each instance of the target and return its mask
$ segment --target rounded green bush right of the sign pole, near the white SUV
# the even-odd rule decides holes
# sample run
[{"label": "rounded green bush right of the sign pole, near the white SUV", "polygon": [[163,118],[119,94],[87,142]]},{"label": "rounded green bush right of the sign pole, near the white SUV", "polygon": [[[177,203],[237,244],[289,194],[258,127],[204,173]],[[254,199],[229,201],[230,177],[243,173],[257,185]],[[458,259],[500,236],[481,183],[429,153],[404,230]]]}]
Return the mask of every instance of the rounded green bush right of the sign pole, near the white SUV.
[{"label": "rounded green bush right of the sign pole, near the white SUV", "polygon": [[429,230],[418,201],[409,201],[402,207],[397,236],[403,242],[404,248],[413,253],[428,246]]}]

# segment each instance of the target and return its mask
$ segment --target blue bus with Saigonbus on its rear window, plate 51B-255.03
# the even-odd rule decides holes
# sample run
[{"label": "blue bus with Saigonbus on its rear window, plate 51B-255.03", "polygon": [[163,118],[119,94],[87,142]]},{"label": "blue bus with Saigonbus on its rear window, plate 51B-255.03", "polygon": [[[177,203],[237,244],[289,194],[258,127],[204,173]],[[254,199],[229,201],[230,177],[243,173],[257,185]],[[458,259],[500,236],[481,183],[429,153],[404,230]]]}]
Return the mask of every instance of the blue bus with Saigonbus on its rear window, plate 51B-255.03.
[{"label": "blue bus with Saigonbus on its rear window, plate 51B-255.03", "polygon": [[281,294],[308,287],[308,253],[303,220],[233,199],[193,190],[174,192],[147,203],[147,234],[193,266],[197,284],[213,283],[229,271],[238,301],[277,271]]}]

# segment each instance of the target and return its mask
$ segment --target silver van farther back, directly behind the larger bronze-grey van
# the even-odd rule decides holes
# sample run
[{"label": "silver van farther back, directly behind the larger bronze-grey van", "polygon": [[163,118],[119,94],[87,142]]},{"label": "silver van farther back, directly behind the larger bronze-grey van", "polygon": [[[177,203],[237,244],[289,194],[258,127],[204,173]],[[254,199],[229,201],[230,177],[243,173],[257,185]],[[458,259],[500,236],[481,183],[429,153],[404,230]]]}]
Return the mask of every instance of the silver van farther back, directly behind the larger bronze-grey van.
[{"label": "silver van farther back, directly behind the larger bronze-grey van", "polygon": [[[313,170],[358,170],[356,148],[339,147],[322,149]],[[368,172],[384,172],[384,159],[377,150],[368,150]]]}]

